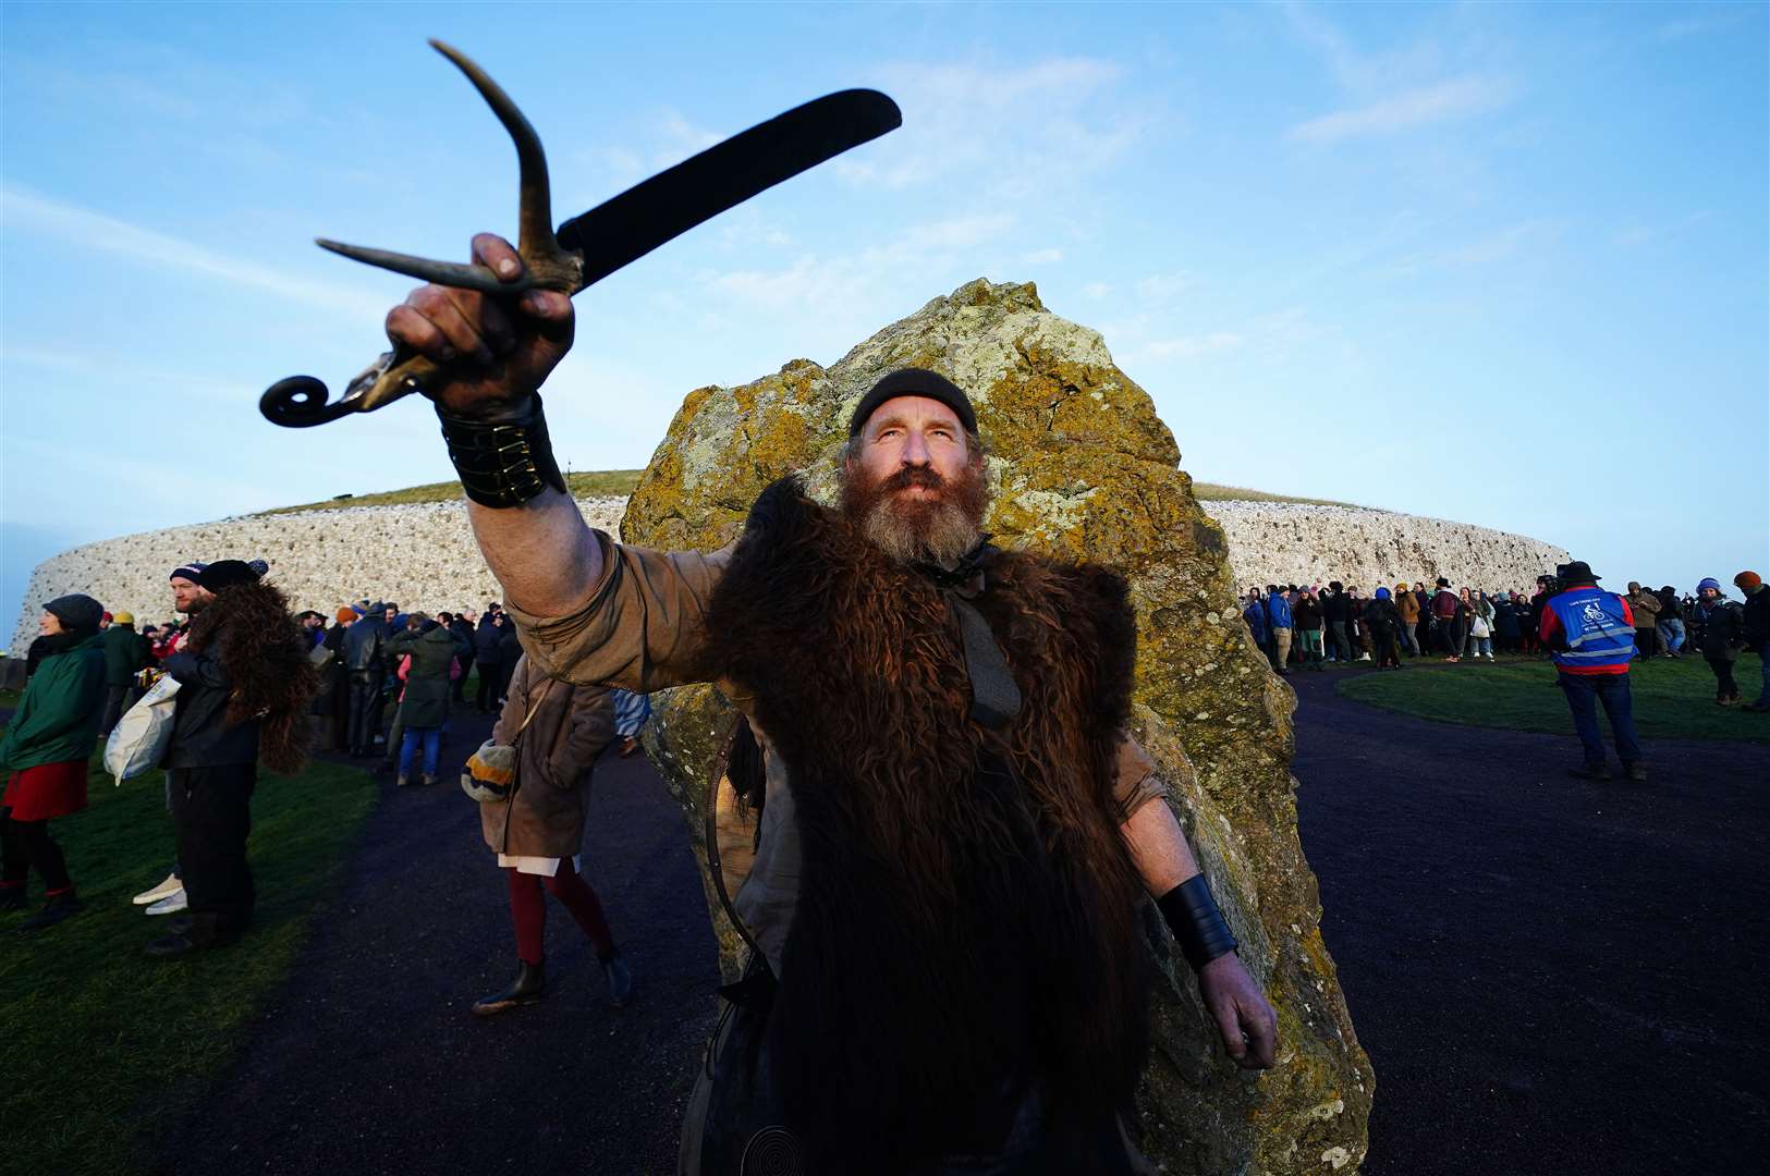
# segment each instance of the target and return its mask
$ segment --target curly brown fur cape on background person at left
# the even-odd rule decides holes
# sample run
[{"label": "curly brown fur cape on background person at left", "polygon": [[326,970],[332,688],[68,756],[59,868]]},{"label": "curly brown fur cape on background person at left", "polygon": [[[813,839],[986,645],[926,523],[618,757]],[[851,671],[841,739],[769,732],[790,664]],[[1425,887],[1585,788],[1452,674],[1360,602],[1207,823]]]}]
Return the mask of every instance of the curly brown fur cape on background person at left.
[{"label": "curly brown fur cape on background person at left", "polygon": [[285,776],[301,771],[308,762],[308,702],[320,679],[283,592],[262,582],[221,589],[191,617],[189,649],[219,661],[232,683],[228,725],[258,720],[264,766]]}]

